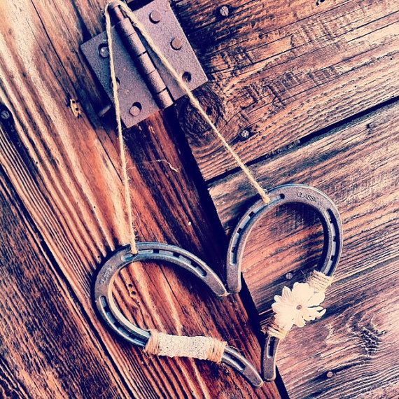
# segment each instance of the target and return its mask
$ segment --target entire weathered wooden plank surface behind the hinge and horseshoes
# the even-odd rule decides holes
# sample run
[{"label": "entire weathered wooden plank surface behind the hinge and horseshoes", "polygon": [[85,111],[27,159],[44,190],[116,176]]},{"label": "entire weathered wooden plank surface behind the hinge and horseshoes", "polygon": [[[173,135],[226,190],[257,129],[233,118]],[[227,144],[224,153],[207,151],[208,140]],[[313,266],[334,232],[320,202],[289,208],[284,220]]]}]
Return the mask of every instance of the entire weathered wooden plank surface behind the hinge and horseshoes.
[{"label": "entire weathered wooden plank surface behind the hinge and horseshoes", "polygon": [[[398,7],[221,5],[172,1],[210,80],[195,93],[265,187],[309,183],[337,202],[346,244],[327,317],[293,331],[278,388],[257,390],[228,367],[148,357],[112,335],[92,278],[129,233],[115,122],[97,116],[104,93],[79,50],[104,30],[104,1],[2,2],[4,397],[397,396]],[[125,139],[139,239],[182,246],[223,276],[229,231],[255,199],[234,162],[185,99]],[[158,264],[125,269],[114,295],[138,325],[221,337],[259,368],[271,298],[286,272],[295,281],[314,265],[320,244],[314,215],[281,209],[251,239],[240,295],[215,299]]]}]

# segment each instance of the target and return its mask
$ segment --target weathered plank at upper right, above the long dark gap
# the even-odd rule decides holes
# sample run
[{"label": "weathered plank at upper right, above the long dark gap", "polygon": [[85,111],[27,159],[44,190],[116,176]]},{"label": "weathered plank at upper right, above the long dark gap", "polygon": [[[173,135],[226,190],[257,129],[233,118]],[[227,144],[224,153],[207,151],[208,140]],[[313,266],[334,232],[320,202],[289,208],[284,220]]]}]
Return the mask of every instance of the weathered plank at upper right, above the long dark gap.
[{"label": "weathered plank at upper right, above the long dark gap", "polygon": [[[394,1],[228,0],[227,18],[175,3],[210,79],[197,94],[245,162],[399,94]],[[237,167],[193,109],[180,116],[205,180]]]}]

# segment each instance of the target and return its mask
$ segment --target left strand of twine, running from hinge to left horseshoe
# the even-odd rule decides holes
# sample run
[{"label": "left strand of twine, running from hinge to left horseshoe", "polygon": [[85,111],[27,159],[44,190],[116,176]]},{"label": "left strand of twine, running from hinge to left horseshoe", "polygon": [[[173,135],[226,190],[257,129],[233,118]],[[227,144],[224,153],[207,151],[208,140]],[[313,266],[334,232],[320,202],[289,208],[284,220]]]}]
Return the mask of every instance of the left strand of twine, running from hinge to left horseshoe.
[{"label": "left strand of twine, running from hinge to left horseshoe", "polygon": [[125,141],[123,140],[122,121],[120,120],[118,82],[116,80],[115,63],[114,63],[114,59],[113,59],[111,17],[109,15],[109,9],[108,9],[109,5],[110,5],[110,3],[108,3],[106,5],[105,10],[104,10],[105,22],[106,22],[106,38],[107,38],[108,47],[109,47],[109,59],[110,59],[109,66],[111,69],[113,104],[115,106],[116,125],[118,128],[120,163],[121,163],[122,174],[123,174],[123,190],[125,192],[127,223],[129,225],[129,231],[130,231],[130,246],[131,246],[131,251],[132,251],[133,255],[135,255],[136,253],[138,253],[138,250],[137,250],[137,244],[136,244],[136,233],[134,232],[134,225],[133,225],[133,210],[132,210],[132,199],[130,198],[129,177],[127,176],[126,148],[125,148]]}]

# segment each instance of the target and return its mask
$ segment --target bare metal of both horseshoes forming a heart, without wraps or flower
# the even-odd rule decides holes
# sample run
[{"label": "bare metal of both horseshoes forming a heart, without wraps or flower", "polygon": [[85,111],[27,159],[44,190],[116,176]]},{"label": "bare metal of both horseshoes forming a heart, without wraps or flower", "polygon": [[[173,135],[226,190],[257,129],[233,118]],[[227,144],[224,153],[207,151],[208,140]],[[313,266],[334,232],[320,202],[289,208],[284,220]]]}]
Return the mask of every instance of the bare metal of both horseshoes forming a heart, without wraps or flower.
[{"label": "bare metal of both horseshoes forming a heart, without wraps or flower", "polygon": [[[232,232],[227,256],[227,284],[230,293],[241,289],[241,260],[248,237],[256,222],[272,209],[282,204],[299,202],[316,210],[323,226],[323,252],[318,262],[319,272],[332,276],[342,252],[342,222],[335,204],[330,198],[316,188],[299,184],[278,186],[269,191],[271,201],[265,204],[258,200],[241,217]],[[158,242],[139,242],[138,253],[133,255],[130,246],[124,246],[113,252],[111,257],[99,269],[94,283],[94,302],[97,311],[106,325],[120,337],[140,347],[146,346],[151,333],[134,325],[122,314],[116,305],[113,295],[113,281],[121,269],[132,262],[162,261],[186,269],[205,283],[218,297],[228,294],[218,275],[204,261],[189,251],[177,246]],[[267,337],[263,355],[263,378],[271,381],[275,377],[276,350],[279,339]],[[253,365],[231,346],[226,346],[222,362],[230,365],[242,374],[253,386],[262,385],[262,377]]]}]

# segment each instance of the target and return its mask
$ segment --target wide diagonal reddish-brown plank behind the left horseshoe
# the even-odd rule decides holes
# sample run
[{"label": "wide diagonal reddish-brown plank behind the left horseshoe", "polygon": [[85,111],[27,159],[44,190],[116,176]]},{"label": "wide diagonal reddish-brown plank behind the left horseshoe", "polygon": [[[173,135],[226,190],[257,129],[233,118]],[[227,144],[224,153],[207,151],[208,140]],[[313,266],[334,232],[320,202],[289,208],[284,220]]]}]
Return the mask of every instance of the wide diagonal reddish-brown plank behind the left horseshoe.
[{"label": "wide diagonal reddish-brown plank behind the left horseshoe", "polygon": [[[102,30],[103,6],[102,1],[1,3],[0,102],[15,123],[15,129],[11,124],[0,130],[1,165],[53,257],[48,262],[87,314],[76,328],[102,343],[103,352],[92,356],[109,358],[125,384],[127,393],[108,398],[278,398],[274,384],[253,390],[228,367],[144,356],[109,334],[94,313],[94,272],[128,239],[114,122],[94,113],[101,95],[78,51]],[[82,105],[81,118],[69,108],[71,99]],[[211,225],[189,176],[193,165],[174,144],[181,139],[177,122],[164,116],[125,132],[138,237],[179,244],[221,272],[223,235]],[[237,296],[216,300],[185,274],[139,264],[121,273],[114,293],[141,327],[223,337],[260,364],[260,346]]]}]

